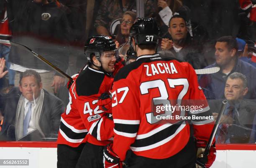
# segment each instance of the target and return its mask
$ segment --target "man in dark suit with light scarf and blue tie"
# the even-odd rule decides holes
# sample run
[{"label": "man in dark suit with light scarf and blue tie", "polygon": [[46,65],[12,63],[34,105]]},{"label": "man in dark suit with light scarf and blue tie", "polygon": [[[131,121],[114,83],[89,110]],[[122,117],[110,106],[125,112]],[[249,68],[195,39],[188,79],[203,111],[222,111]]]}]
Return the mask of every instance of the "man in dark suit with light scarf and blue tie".
[{"label": "man in dark suit with light scarf and blue tie", "polygon": [[42,89],[41,77],[36,71],[21,73],[19,87],[11,89],[5,101],[2,139],[18,140],[35,129],[42,138],[58,133],[64,104]]}]

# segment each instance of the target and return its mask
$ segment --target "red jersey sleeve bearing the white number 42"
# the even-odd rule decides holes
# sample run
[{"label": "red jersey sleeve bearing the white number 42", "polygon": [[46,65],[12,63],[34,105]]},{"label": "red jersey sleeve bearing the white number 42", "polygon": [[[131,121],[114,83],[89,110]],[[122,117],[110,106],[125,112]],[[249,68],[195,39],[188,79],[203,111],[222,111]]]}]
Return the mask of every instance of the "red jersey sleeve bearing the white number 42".
[{"label": "red jersey sleeve bearing the white number 42", "polygon": [[77,108],[88,133],[98,141],[104,141],[113,137],[114,123],[104,111],[99,109],[97,104],[99,96],[99,94],[79,96]]}]

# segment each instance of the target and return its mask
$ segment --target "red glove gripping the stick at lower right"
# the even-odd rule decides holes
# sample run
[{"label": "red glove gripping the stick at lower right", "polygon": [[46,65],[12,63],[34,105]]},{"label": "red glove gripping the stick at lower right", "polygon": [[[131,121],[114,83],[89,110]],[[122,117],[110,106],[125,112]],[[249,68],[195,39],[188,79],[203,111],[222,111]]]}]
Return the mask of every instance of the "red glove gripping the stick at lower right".
[{"label": "red glove gripping the stick at lower right", "polygon": [[215,143],[210,147],[209,154],[207,156],[203,156],[205,151],[207,142],[202,140],[197,140],[197,161],[196,167],[197,168],[210,168],[212,163],[215,161],[216,158],[216,148]]}]

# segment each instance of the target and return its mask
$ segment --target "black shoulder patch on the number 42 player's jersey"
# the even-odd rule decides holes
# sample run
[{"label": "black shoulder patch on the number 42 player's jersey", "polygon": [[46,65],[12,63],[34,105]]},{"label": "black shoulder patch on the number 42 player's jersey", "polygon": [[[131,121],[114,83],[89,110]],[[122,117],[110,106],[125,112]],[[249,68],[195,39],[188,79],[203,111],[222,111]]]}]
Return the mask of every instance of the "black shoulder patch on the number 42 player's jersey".
[{"label": "black shoulder patch on the number 42 player's jersey", "polygon": [[87,67],[76,79],[76,91],[78,96],[91,96],[98,94],[105,74],[99,70]]}]

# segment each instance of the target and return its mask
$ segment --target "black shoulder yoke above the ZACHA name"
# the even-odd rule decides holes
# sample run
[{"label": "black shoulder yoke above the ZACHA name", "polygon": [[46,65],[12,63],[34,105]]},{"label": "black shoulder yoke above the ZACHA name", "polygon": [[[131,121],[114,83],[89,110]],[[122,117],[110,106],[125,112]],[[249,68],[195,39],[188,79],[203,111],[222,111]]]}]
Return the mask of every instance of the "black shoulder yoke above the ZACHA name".
[{"label": "black shoulder yoke above the ZACHA name", "polygon": [[[159,59],[157,59],[157,58],[159,58]],[[119,72],[115,75],[114,82],[116,82],[120,79],[125,79],[132,70],[137,69],[143,63],[155,62],[155,61],[171,61],[171,60],[176,60],[178,62],[182,62],[181,60],[173,58],[173,57],[170,57],[170,58],[161,57],[159,54],[142,55],[142,56],[138,57],[135,62],[131,62],[130,64],[121,68],[119,70]]]}]

